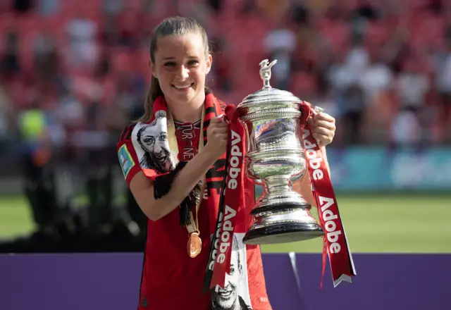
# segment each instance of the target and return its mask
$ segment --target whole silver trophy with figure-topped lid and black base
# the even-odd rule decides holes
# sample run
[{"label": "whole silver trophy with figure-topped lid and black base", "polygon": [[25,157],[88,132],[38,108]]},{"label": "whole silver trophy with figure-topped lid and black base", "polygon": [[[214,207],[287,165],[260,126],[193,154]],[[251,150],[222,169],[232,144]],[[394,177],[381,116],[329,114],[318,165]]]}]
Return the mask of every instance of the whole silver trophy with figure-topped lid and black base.
[{"label": "whole silver trophy with figure-topped lid and black base", "polygon": [[264,189],[251,211],[254,223],[243,239],[246,244],[295,242],[324,234],[310,214],[311,205],[292,189],[292,182],[307,173],[299,124],[302,100],[271,87],[276,63],[261,61],[264,87],[237,106],[247,135],[245,173]]}]

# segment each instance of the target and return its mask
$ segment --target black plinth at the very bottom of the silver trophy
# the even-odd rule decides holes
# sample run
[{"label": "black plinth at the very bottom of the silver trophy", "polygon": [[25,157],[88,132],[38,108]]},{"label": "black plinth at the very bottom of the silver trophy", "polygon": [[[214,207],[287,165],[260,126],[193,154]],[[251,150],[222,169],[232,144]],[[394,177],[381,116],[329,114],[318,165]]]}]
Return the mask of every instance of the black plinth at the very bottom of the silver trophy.
[{"label": "black plinth at the very bottom of the silver trophy", "polygon": [[323,229],[314,223],[291,223],[249,230],[242,242],[245,244],[280,244],[322,237]]}]

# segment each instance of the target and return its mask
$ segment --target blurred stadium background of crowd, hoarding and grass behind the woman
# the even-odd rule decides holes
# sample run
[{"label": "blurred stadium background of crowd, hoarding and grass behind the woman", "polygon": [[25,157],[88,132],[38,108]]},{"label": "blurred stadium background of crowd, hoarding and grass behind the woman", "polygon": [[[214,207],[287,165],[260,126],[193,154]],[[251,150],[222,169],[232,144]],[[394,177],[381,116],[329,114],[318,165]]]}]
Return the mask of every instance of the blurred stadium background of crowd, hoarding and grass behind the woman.
[{"label": "blurred stadium background of crowd, hoarding and grass behind the woman", "polygon": [[142,251],[116,140],[142,113],[149,34],[175,14],[206,27],[224,101],[276,58],[271,85],[336,118],[352,252],[451,252],[448,0],[0,1],[0,252]]}]

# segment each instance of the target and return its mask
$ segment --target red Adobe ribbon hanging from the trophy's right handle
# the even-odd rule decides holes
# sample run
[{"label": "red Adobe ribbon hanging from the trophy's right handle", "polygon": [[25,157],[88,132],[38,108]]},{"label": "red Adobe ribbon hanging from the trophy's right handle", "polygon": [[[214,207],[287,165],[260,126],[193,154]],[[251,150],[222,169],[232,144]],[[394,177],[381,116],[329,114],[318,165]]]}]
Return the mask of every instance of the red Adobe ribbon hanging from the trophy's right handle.
[{"label": "red Adobe ribbon hanging from the trophy's right handle", "polygon": [[301,105],[302,116],[300,129],[304,145],[307,167],[311,180],[312,193],[316,200],[319,212],[319,221],[324,229],[323,236],[323,271],[321,275],[321,287],[323,283],[324,269],[326,267],[326,252],[329,257],[330,270],[332,271],[333,286],[336,287],[342,281],[352,283],[352,276],[357,275],[354,261],[347,242],[345,228],[338,211],[337,199],[332,187],[330,175],[327,171],[323,153],[316,139],[311,135],[307,120],[315,111],[311,104],[303,101]]}]

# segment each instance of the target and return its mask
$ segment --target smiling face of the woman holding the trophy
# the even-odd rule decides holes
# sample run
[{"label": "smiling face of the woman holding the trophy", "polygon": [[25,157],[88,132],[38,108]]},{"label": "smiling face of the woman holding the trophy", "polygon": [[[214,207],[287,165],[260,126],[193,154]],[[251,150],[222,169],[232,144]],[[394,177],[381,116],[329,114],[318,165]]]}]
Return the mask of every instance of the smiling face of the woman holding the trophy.
[{"label": "smiling face of the woman holding the trophy", "polygon": [[211,67],[211,55],[205,55],[200,35],[171,35],[157,41],[152,75],[168,104],[186,106],[199,99],[204,101],[206,74]]}]

